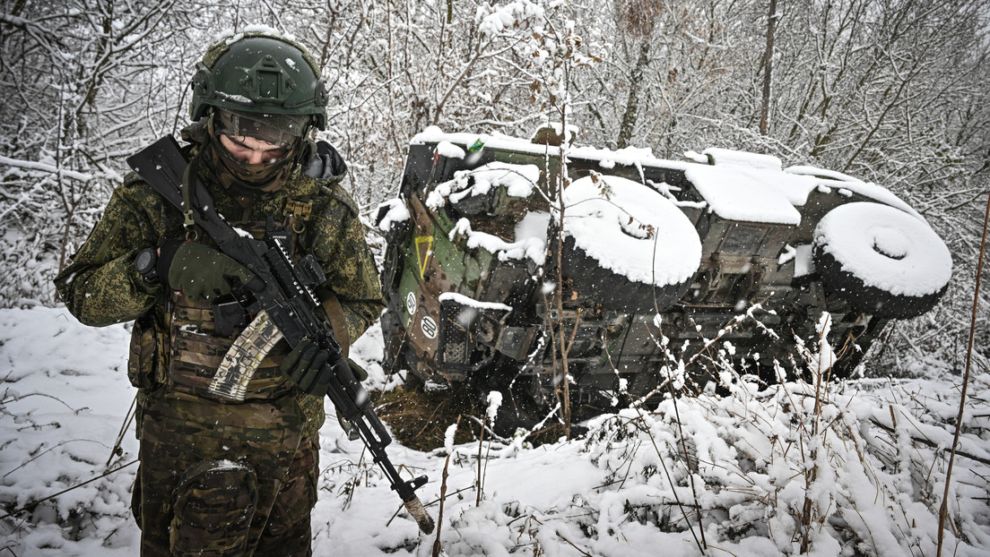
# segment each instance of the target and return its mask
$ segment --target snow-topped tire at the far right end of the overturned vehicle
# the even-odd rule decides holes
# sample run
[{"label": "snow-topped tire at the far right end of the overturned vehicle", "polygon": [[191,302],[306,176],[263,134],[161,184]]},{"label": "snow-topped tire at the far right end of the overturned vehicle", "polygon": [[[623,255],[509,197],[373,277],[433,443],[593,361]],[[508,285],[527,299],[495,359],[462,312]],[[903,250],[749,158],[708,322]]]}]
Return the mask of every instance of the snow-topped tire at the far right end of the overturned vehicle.
[{"label": "snow-topped tire at the far right end of the overturned vehicle", "polygon": [[885,319],[931,310],[952,271],[948,247],[921,217],[868,202],[841,205],[819,222],[813,260],[828,295]]}]

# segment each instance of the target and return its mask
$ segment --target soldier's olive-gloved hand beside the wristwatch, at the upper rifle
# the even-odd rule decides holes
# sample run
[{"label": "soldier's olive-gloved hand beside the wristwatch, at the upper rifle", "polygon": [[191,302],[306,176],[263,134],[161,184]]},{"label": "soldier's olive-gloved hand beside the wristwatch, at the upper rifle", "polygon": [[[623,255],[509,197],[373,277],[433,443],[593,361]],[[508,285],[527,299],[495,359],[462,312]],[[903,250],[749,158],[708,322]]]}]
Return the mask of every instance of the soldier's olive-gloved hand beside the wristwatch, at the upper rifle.
[{"label": "soldier's olive-gloved hand beside the wristwatch, at the upper rifle", "polygon": [[254,278],[244,265],[202,243],[169,239],[160,247],[158,276],[167,277],[168,286],[190,302],[230,294],[234,278],[241,284]]}]

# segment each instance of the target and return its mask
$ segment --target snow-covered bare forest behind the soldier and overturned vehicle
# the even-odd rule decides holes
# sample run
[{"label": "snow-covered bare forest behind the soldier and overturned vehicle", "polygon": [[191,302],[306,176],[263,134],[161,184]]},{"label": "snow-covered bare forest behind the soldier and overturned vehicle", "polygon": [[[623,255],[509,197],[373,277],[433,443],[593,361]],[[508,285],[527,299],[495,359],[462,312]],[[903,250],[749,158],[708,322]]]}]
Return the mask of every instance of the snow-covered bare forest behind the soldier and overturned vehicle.
[{"label": "snow-covered bare forest behind the soldier and overturned vehicle", "polygon": [[[57,303],[50,280],[99,218],[124,158],[177,135],[195,62],[218,33],[253,24],[319,60],[331,94],[321,136],[346,157],[365,216],[397,194],[409,139],[433,125],[529,137],[566,120],[580,144],[674,159],[752,150],[884,185],[940,233],[954,270],[940,305],[889,326],[867,368],[964,364],[990,186],[980,0],[0,5],[0,307]],[[981,298],[975,361],[986,370]]]}]

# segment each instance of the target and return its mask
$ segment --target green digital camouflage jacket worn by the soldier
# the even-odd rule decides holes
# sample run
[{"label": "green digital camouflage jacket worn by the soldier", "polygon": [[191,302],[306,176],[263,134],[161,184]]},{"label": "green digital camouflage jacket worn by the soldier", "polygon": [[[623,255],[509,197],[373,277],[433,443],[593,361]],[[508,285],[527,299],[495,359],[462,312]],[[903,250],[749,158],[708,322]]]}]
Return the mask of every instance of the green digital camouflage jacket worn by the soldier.
[{"label": "green digital camouflage jacket worn by the soldier", "polygon": [[[276,222],[287,220],[290,204],[308,205],[309,215],[304,222],[290,222],[296,231],[302,231],[294,243],[302,251],[312,253],[322,266],[327,282],[317,293],[323,300],[336,297],[339,301],[336,307],[343,316],[337,316],[338,321],[346,323],[347,337],[352,340],[378,319],[384,307],[377,269],[357,218],[357,208],[340,185],[347,170],[343,158],[328,143],[321,141],[312,147],[316,155],[305,170],[297,165],[280,190],[255,200],[247,208],[219,184],[212,171],[201,171],[200,178],[213,195],[220,214],[248,231],[256,230],[257,224],[263,224],[269,216]],[[72,263],[55,278],[62,301],[84,325],[138,320],[131,344],[129,376],[141,390],[139,401],[168,381],[167,360],[177,348],[169,338],[176,332],[170,321],[175,316],[175,298],[180,298],[181,305],[181,295],[167,292],[160,284],[148,284],[138,273],[134,259],[140,250],[157,245],[161,238],[185,237],[182,223],[178,209],[131,173],[114,190],[103,218],[72,256]],[[199,315],[195,307],[187,308],[185,317]],[[209,313],[209,306],[206,308],[204,315]],[[344,331],[338,330],[339,336],[344,335]],[[143,354],[145,350],[149,353]],[[286,346],[281,346],[281,350],[276,348],[273,352],[285,350]],[[281,358],[276,356],[276,359]],[[148,360],[153,369],[137,369],[147,367]],[[268,367],[273,367],[270,362]],[[269,383],[280,380],[269,379]],[[290,392],[299,398],[307,415],[304,433],[315,433],[323,422],[323,401],[309,400],[312,397],[295,389]]]}]

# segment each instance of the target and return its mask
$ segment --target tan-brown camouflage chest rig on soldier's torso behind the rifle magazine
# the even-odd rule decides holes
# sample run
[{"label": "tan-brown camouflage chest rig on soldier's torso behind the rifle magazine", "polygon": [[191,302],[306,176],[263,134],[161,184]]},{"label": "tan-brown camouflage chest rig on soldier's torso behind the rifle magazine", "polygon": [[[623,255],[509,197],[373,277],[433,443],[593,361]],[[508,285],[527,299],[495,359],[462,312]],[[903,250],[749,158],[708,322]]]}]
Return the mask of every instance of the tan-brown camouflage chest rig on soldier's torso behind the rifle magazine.
[{"label": "tan-brown camouflage chest rig on soldier's torso behind the rifle magazine", "polygon": [[[292,258],[298,260],[305,254],[302,243],[306,239],[306,223],[312,205],[312,200],[307,198],[288,199],[281,221],[276,222],[269,216],[264,221],[245,220],[232,224],[258,239],[278,238]],[[195,241],[216,247],[208,237],[201,236]],[[210,383],[224,355],[253,316],[248,316],[234,297],[225,298],[194,303],[179,292],[171,293],[168,325],[171,346],[165,378],[169,396],[231,403],[210,393]],[[288,351],[288,344],[283,340],[268,352],[247,384],[246,401],[271,400],[293,393],[292,383],[279,370]]]}]

